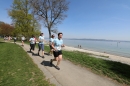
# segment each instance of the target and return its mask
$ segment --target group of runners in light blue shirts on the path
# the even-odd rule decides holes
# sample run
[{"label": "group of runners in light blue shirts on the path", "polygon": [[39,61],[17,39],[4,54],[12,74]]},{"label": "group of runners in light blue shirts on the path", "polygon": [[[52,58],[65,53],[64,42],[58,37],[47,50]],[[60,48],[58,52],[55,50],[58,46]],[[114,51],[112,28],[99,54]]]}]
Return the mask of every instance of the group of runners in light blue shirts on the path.
[{"label": "group of runners in light blue shirts on the path", "polygon": [[[53,61],[57,61],[57,64],[55,67],[58,70],[60,70],[59,64],[62,60],[62,47],[64,47],[62,36],[63,36],[62,33],[58,33],[58,38],[55,38],[55,36],[52,35],[51,38],[49,39],[49,46],[50,46],[49,54],[54,55],[54,59],[50,60],[50,65],[53,65]],[[37,55],[40,56],[40,51],[41,51],[42,52],[41,57],[45,58],[44,57],[44,34],[41,33],[38,39],[36,39],[35,36],[32,35],[29,41],[30,41],[30,52],[34,54],[35,45],[36,45],[36,42],[38,42],[39,49],[38,49]],[[22,41],[22,45],[23,43],[24,42]]]}]

